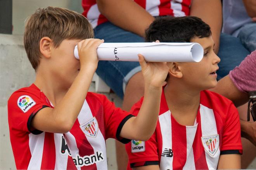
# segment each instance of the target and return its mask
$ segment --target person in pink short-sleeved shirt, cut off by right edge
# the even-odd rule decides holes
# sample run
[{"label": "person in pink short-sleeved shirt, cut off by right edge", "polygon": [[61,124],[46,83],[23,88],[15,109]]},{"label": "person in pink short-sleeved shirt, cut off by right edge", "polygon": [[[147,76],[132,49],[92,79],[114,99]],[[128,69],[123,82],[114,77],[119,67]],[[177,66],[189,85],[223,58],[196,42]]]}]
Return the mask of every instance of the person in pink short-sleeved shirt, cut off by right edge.
[{"label": "person in pink short-sleeved shirt, cut off by right edge", "polygon": [[[248,55],[239,66],[223,77],[213,92],[219,93],[234,102],[236,107],[246,104],[249,100],[248,92],[256,90],[256,50]],[[255,158],[256,153],[256,122],[247,122],[243,117],[246,117],[247,106],[240,110],[241,134],[243,138],[248,139],[253,143],[243,141],[244,153],[242,155],[242,168],[247,168],[249,163]],[[252,119],[251,119],[252,120]],[[252,149],[254,148],[254,150]],[[246,150],[246,151],[245,151]],[[250,153],[249,153],[250,152]],[[244,157],[243,157],[244,156]]]}]

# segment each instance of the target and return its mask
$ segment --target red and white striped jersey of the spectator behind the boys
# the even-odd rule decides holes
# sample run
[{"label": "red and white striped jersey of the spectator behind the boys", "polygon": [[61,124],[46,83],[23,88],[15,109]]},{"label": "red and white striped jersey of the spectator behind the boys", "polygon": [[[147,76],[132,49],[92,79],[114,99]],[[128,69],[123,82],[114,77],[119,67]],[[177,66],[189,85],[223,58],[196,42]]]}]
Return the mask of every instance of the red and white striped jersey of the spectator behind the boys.
[{"label": "red and white striped jersey of the spectator behind the boys", "polygon": [[[186,16],[190,12],[191,0],[134,0],[152,16]],[[118,1],[117,1],[118,3]],[[82,0],[83,15],[89,20],[93,28],[107,22],[100,14],[96,0]]]}]

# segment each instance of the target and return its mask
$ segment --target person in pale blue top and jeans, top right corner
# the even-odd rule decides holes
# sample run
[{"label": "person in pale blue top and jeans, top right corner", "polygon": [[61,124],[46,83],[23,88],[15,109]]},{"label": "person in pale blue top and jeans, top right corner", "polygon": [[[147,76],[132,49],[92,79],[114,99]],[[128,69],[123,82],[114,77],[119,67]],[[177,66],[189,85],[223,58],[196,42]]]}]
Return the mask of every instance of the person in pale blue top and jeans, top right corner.
[{"label": "person in pale blue top and jeans, top right corner", "polygon": [[223,1],[222,32],[239,37],[250,52],[254,51],[256,49],[256,1]]}]

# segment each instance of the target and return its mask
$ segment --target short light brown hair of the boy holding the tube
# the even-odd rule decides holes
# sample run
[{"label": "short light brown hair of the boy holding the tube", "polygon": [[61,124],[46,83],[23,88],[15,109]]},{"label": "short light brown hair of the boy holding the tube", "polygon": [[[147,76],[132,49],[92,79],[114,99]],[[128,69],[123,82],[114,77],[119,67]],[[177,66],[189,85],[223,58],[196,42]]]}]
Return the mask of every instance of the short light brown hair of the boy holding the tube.
[{"label": "short light brown hair of the boy holding the tube", "polygon": [[52,39],[57,48],[64,39],[93,38],[93,28],[81,14],[59,7],[39,8],[25,24],[24,47],[36,70],[40,63],[39,43],[42,37]]}]

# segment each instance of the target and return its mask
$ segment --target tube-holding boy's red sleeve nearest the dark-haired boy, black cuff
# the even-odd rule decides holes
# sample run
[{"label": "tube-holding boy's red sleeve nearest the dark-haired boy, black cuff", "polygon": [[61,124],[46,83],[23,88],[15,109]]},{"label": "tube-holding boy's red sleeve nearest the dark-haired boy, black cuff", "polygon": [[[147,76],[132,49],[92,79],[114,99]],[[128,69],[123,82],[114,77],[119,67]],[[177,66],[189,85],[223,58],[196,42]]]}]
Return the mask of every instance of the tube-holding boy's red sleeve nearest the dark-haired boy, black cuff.
[{"label": "tube-holding boy's red sleeve nearest the dark-haired boy, black cuff", "polygon": [[104,109],[106,139],[114,138],[122,143],[128,143],[130,139],[121,138],[119,135],[125,122],[133,117],[133,115],[116,107],[115,104],[110,102],[105,95],[100,95],[100,100]]}]

